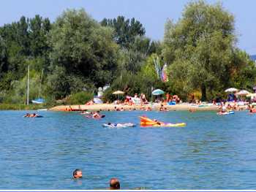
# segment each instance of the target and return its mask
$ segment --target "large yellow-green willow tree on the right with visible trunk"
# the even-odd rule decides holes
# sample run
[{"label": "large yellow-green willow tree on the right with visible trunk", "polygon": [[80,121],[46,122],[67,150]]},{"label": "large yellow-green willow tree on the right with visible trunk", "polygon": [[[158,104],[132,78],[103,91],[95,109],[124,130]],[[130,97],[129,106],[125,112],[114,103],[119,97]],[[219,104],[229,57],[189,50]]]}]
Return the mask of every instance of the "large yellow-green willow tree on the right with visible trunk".
[{"label": "large yellow-green willow tree on the right with visible trunk", "polygon": [[177,23],[165,25],[165,61],[170,79],[184,93],[224,88],[233,68],[236,46],[233,15],[221,4],[196,1],[187,4]]}]

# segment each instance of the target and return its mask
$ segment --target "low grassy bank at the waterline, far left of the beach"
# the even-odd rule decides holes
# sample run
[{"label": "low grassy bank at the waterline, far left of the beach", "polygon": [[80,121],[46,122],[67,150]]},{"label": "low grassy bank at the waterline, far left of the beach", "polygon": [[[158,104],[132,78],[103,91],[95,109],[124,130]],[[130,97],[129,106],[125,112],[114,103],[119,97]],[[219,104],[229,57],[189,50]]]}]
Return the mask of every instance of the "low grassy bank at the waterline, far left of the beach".
[{"label": "low grassy bank at the waterline, far left of the beach", "polygon": [[39,110],[48,108],[43,104],[0,104],[0,110]]}]

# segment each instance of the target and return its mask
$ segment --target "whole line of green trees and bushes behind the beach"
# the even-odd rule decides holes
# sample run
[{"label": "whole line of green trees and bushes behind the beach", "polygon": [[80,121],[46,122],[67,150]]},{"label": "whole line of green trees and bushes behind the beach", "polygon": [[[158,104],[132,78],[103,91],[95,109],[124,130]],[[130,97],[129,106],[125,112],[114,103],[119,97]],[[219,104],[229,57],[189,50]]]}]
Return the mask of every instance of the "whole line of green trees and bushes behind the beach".
[{"label": "whole line of green trees and bushes behind the beach", "polygon": [[[230,86],[251,90],[255,85],[255,64],[236,46],[234,17],[221,4],[187,4],[176,23],[167,20],[162,41],[145,34],[135,18],[97,22],[84,9],[67,9],[53,23],[35,15],[5,24],[0,27],[0,102],[26,101],[27,66],[31,99],[49,102],[84,102],[108,83],[105,101],[113,101],[116,90],[150,97],[152,87],[183,100],[195,92],[209,100]],[[157,72],[164,64],[167,82]]]}]

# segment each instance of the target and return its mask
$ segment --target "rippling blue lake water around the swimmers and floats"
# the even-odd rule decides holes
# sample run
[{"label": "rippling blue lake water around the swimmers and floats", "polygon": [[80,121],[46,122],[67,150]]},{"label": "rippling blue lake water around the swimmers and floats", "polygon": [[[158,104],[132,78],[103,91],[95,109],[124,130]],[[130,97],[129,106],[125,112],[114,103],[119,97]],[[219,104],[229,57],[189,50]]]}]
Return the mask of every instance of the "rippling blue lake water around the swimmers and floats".
[{"label": "rippling blue lake water around the swimmers and floats", "polygon": [[[0,189],[255,189],[256,114],[0,112]],[[183,128],[140,128],[139,115]],[[137,123],[103,128],[102,123]],[[73,180],[74,169],[83,179]]]}]

